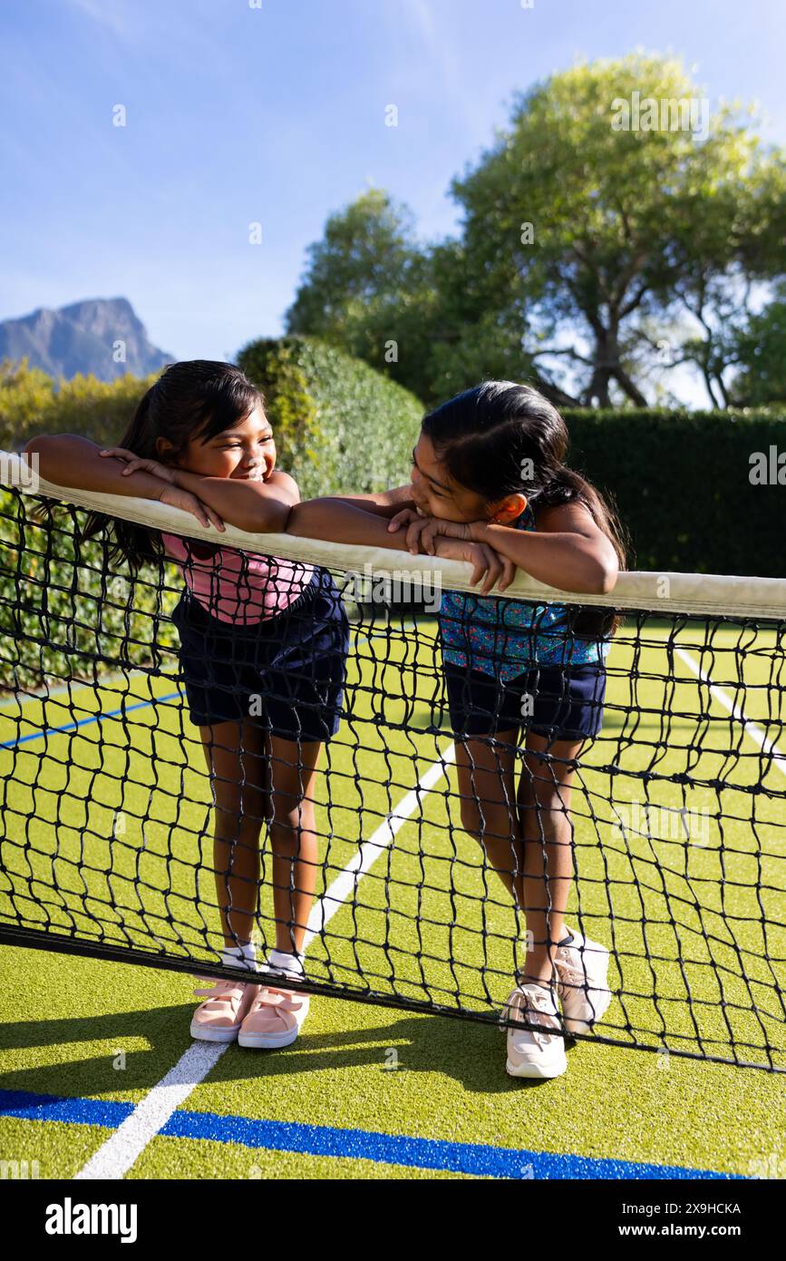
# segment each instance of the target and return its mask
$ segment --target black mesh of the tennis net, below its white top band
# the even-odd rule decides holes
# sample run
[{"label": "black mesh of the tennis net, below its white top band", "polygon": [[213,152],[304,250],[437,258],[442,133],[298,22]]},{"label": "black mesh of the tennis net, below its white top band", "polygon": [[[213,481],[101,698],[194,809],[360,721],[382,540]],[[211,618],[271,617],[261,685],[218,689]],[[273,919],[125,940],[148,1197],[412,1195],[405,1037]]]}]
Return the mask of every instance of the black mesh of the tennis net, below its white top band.
[{"label": "black mesh of the tennis net, below its white top band", "polygon": [[[532,946],[499,868],[548,933],[562,847],[566,923],[610,951],[590,1037],[786,1067],[786,620],[620,610],[588,685],[571,644],[606,610],[529,604],[519,670],[511,601],[471,596],[453,657],[480,628],[493,686],[443,666],[401,574],[268,557],[291,590],[259,622],[236,552],[231,625],[84,522],[3,492],[0,939],[231,976],[228,938],[305,929],[307,990],[498,1020]],[[220,601],[210,547],[180,546]]]}]

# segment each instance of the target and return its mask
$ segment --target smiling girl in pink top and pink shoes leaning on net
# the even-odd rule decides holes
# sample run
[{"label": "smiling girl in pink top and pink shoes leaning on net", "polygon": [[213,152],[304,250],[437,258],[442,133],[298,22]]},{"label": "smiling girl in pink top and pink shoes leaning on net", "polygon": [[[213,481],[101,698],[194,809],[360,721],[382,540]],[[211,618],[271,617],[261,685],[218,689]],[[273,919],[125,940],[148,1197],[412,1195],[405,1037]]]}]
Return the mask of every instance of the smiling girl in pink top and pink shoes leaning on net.
[{"label": "smiling girl in pink top and pink shoes leaning on net", "polygon": [[[220,533],[278,532],[300,496],[276,469],[263,400],[228,363],[174,363],[147,391],[118,448],[74,435],[34,439],[59,485],[161,499]],[[209,504],[209,506],[208,506]],[[106,527],[94,517],[86,533]],[[343,704],[348,620],[326,570],[112,522],[115,552],[136,569],[162,552],[181,567],[174,612],[188,710],[199,729],[214,813],[214,874],[227,966],[256,968],[262,825],[272,849],[276,948],[263,971],[304,975],[302,944],[319,851],[315,782]],[[196,991],[191,1035],[283,1047],[309,999],[276,985],[218,981]]]}]

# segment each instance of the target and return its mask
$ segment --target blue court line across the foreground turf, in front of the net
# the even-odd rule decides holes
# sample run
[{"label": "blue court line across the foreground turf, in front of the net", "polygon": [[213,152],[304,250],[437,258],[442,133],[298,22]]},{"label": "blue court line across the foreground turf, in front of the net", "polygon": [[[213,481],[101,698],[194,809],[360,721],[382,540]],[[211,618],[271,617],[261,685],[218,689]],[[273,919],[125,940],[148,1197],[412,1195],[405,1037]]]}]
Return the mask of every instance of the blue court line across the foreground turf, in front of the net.
[{"label": "blue court line across the foreground turf, in front of the net", "polygon": [[[116,1129],[134,1111],[134,1103],[88,1098],[60,1098],[30,1091],[0,1090],[0,1116],[28,1121],[64,1121],[71,1125],[101,1125]],[[296,1121],[254,1121],[246,1116],[215,1112],[173,1112],[159,1131],[171,1139],[207,1139],[241,1148],[295,1151],[309,1156],[344,1156],[411,1169],[440,1169],[475,1174],[479,1178],[516,1179],[723,1179],[743,1180],[742,1174],[722,1174],[680,1165],[654,1165],[634,1160],[606,1160],[571,1153],[516,1151],[482,1142],[448,1142],[369,1130],[343,1130],[331,1125],[302,1125]]]}]

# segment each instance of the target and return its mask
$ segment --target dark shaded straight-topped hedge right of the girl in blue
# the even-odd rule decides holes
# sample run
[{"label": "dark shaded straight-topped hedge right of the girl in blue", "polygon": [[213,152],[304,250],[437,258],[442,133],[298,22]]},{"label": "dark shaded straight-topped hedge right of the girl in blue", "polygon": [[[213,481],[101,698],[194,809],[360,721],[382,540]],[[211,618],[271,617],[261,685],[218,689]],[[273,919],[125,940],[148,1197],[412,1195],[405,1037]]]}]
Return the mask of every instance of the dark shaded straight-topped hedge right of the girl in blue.
[{"label": "dark shaded straight-topped hedge right of the girl in blue", "polygon": [[749,480],[753,453],[786,453],[785,411],[563,415],[571,465],[616,501],[629,567],[786,576],[786,485]]}]

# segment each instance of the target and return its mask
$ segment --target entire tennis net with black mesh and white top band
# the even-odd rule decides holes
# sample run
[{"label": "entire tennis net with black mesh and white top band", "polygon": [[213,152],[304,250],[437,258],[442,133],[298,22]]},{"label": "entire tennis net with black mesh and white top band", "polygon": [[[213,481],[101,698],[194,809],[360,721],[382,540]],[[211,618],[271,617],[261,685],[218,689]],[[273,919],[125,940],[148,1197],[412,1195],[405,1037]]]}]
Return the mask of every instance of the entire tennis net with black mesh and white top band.
[{"label": "entire tennis net with black mesh and white top band", "polygon": [[[213,830],[232,774],[225,760],[208,772],[189,720],[183,571],[162,559],[134,576],[110,559],[108,533],[83,537],[88,509],[102,511],[180,538],[186,567],[204,571],[208,532],[162,504],[29,484],[15,456],[4,473],[0,941],[247,979],[220,962]],[[500,835],[491,817],[506,808],[524,844],[545,851],[544,811],[557,811],[574,865],[566,922],[611,952],[613,1001],[587,1037],[786,1068],[786,581],[631,572],[590,601],[518,575],[504,600],[470,596],[469,622],[485,632],[479,652],[491,633],[499,654],[516,607],[535,610],[535,629],[563,646],[602,646],[615,613],[621,622],[602,726],[576,745],[568,801],[554,794],[566,747],[537,709],[555,712],[558,675],[530,671],[513,736],[500,734],[503,723],[470,745],[455,738],[437,614],[447,593],[470,590],[469,566],[229,528],[222,547],[275,556],[292,581],[317,566],[349,622],[338,733],[311,778],[296,768],[319,854],[305,989],[499,1020],[527,932],[491,866]],[[555,605],[567,618],[550,619]],[[207,683],[213,700],[217,690],[232,700],[219,656]],[[312,662],[297,660],[290,682],[309,682]],[[290,682],[285,696],[262,696],[262,729],[272,702],[292,702]],[[456,686],[453,706],[466,699]],[[527,709],[533,695],[539,724]],[[499,705],[498,694],[489,712]],[[597,695],[587,706],[600,712]],[[484,757],[521,777],[518,805],[514,781],[489,806],[495,777]],[[251,763],[241,763],[244,781]],[[506,782],[501,770],[498,781]],[[552,791],[548,807],[539,786],[543,799]],[[239,813],[256,811],[262,830],[253,938],[265,952],[276,943],[282,878],[266,807],[251,799]],[[287,870],[292,908],[296,868]],[[219,884],[227,875],[219,868]],[[543,884],[550,907],[554,884]]]}]

